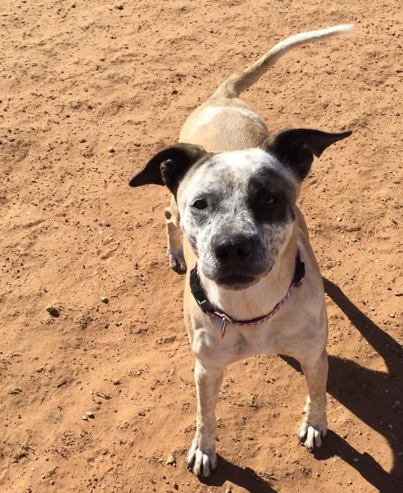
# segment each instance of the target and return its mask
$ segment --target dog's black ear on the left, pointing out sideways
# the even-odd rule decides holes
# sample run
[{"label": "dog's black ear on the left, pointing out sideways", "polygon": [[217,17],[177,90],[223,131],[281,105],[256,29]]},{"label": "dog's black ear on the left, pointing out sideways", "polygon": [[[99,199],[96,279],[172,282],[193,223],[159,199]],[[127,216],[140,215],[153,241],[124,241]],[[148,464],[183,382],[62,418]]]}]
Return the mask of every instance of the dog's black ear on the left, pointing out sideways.
[{"label": "dog's black ear on the left, pointing out sideways", "polygon": [[166,185],[176,195],[181,179],[194,163],[206,155],[207,151],[200,145],[172,145],[151,158],[144,169],[130,180],[129,185]]}]

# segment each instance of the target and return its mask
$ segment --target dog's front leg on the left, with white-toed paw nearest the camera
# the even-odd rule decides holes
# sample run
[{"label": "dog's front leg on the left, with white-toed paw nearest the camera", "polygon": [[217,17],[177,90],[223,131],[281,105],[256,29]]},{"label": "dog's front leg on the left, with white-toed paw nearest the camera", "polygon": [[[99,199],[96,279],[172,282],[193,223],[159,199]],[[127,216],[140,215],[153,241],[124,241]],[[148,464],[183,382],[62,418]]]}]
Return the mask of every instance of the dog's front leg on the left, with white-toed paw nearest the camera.
[{"label": "dog's front leg on the left, with white-toed paw nearest the camera", "polygon": [[186,462],[188,468],[201,478],[210,476],[217,465],[215,406],[223,382],[223,373],[223,370],[204,368],[196,359],[194,369],[197,392],[196,434],[187,453]]}]

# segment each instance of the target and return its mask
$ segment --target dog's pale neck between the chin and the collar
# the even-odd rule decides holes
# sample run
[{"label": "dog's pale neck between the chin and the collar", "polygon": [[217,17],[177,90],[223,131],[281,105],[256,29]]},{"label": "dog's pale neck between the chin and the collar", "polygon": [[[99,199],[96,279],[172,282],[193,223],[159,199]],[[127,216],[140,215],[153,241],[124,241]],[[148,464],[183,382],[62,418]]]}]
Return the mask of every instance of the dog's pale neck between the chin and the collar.
[{"label": "dog's pale neck between the chin and the collar", "polygon": [[240,291],[227,290],[199,273],[210,303],[233,319],[252,319],[269,313],[284,297],[294,275],[297,253],[297,231],[285,250],[278,256],[273,268],[256,284]]}]

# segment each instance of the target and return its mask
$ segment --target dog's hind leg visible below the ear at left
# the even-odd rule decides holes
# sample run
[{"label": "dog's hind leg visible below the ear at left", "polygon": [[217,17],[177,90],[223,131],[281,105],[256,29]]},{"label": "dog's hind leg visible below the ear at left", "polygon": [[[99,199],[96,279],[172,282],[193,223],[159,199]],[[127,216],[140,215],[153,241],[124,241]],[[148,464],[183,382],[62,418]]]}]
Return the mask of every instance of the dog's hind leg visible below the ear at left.
[{"label": "dog's hind leg visible below the ear at left", "polygon": [[167,254],[172,269],[178,274],[186,273],[186,262],[182,239],[180,237],[180,215],[175,197],[171,197],[171,205],[165,210],[166,227],[167,227]]}]

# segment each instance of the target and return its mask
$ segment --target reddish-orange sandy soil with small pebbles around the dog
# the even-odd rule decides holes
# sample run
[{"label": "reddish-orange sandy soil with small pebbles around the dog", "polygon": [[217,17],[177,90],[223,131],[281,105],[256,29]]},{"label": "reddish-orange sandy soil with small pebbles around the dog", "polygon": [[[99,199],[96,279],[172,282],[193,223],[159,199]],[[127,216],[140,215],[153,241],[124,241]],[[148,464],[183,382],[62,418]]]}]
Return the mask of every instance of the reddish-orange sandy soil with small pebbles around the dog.
[{"label": "reddish-orange sandy soil with small pebbles around the dog", "polygon": [[[244,94],[272,130],[354,130],[300,199],[327,292],[328,437],[315,454],[297,443],[295,362],[241,361],[201,484],[184,460],[194,358],[165,252],[169,195],[127,180],[274,42],[351,21]],[[2,492],[401,491],[402,26],[398,0],[2,2]]]}]

